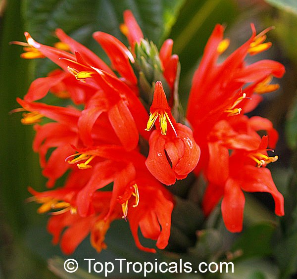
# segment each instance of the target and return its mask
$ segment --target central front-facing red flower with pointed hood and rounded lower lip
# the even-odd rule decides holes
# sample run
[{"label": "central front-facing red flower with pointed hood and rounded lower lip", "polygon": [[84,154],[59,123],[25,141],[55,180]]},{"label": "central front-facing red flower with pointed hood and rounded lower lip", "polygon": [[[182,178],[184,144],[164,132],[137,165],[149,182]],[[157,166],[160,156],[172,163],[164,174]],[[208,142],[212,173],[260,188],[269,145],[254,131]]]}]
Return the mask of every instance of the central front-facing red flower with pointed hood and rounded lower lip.
[{"label": "central front-facing red flower with pointed hood and rounded lower lip", "polygon": [[[191,129],[175,122],[161,82],[155,84],[147,131],[152,128],[157,118],[159,125],[156,125],[157,129],[149,138],[146,165],[156,179],[165,185],[172,185],[176,179],[184,179],[193,171],[199,160],[200,148]],[[170,125],[168,129],[167,121]]]}]

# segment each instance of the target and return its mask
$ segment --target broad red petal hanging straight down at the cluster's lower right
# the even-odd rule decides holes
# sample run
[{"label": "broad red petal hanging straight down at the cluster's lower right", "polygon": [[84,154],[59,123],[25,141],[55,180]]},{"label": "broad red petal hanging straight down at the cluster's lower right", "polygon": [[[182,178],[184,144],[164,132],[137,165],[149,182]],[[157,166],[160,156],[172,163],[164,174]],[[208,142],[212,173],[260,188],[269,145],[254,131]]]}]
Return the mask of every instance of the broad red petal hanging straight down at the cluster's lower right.
[{"label": "broad red petal hanging straight down at the cluster's lower right", "polygon": [[225,226],[231,233],[239,233],[243,229],[245,200],[244,193],[237,182],[228,179],[221,210]]}]

